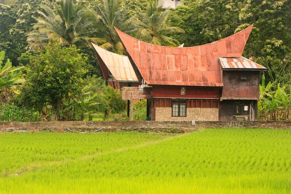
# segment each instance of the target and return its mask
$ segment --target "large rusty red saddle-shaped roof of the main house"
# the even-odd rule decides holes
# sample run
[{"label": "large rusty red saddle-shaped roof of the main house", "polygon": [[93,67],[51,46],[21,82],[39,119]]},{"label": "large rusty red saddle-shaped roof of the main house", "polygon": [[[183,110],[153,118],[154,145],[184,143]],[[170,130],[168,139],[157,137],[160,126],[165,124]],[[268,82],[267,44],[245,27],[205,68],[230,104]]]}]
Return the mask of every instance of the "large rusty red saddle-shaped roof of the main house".
[{"label": "large rusty red saddle-shaped roof of the main house", "polygon": [[147,84],[223,86],[218,58],[241,57],[252,27],[213,43],[184,48],[148,44],[115,30]]}]

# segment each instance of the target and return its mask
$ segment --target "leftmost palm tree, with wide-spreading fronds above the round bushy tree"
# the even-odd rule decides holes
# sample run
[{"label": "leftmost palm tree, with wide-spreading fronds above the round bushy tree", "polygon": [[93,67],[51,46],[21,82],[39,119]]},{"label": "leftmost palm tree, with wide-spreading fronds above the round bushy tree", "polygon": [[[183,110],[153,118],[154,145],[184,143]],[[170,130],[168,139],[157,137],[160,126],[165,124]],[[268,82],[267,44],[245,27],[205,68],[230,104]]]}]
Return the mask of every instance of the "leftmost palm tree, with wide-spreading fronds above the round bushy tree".
[{"label": "leftmost palm tree, with wide-spreading fronds above the round bushy tree", "polygon": [[56,11],[48,5],[40,5],[43,11],[34,24],[34,31],[28,34],[32,47],[43,47],[50,39],[58,39],[63,45],[89,45],[106,42],[102,36],[103,26],[96,14],[73,0],[60,0]]}]

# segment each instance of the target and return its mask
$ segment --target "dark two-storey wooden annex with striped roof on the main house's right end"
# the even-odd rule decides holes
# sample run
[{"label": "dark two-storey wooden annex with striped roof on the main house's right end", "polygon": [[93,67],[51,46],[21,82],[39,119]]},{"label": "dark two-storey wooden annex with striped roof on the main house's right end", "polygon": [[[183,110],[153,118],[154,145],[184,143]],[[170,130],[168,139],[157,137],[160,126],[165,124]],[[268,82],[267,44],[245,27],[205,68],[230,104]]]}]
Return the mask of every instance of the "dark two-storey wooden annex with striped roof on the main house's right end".
[{"label": "dark two-storey wooden annex with striped roof on the main house's right end", "polygon": [[265,67],[244,57],[221,57],[224,87],[220,97],[221,121],[257,120],[259,71]]}]

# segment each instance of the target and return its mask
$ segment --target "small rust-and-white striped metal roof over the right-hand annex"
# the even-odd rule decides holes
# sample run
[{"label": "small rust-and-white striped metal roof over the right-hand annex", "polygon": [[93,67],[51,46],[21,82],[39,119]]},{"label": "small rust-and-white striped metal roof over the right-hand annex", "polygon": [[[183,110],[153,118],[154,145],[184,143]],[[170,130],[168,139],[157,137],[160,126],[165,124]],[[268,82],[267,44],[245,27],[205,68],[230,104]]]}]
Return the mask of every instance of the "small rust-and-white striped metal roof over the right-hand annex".
[{"label": "small rust-and-white striped metal roof over the right-hand annex", "polygon": [[221,57],[218,59],[223,69],[254,69],[254,70],[267,70],[266,67],[259,65],[244,57]]}]

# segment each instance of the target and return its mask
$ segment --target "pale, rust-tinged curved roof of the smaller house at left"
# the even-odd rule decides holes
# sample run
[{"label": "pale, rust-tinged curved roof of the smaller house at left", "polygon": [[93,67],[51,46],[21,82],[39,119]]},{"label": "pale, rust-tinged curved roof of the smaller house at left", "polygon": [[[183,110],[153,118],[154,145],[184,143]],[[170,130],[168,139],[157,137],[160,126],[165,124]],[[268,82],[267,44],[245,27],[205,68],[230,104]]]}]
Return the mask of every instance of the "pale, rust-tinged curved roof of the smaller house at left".
[{"label": "pale, rust-tinged curved roof of the smaller house at left", "polygon": [[[138,81],[127,56],[102,49],[93,43],[92,45],[117,81]],[[100,58],[98,58],[98,60],[100,60]],[[101,64],[100,61],[99,63]]]}]

